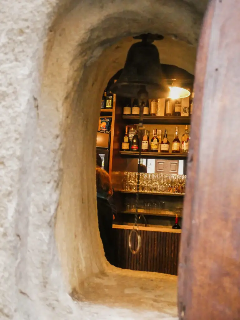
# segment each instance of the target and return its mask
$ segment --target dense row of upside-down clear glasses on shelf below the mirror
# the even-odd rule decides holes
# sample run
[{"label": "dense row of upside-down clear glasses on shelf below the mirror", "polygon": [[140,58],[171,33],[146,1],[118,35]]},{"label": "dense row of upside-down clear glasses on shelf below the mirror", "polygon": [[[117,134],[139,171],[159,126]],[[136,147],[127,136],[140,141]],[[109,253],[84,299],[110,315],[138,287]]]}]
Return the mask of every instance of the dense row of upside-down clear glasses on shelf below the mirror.
[{"label": "dense row of upside-down clear glasses on shelf below the mirror", "polygon": [[186,175],[164,173],[124,172],[123,188],[125,191],[137,191],[138,174],[140,174],[139,191],[151,193],[184,194]]}]

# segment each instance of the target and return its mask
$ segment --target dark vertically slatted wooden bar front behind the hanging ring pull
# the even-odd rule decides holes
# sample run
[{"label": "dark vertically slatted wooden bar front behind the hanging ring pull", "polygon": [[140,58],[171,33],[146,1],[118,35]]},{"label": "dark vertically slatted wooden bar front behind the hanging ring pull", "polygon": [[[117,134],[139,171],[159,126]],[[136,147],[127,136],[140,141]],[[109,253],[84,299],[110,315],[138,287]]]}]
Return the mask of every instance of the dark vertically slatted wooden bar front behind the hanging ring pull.
[{"label": "dark vertically slatted wooden bar front behind the hanging ring pull", "polygon": [[[139,231],[142,245],[137,254],[129,250],[131,230],[113,229],[115,235],[116,266],[123,269],[154,271],[177,275],[180,233]],[[132,235],[132,245],[137,237]]]}]

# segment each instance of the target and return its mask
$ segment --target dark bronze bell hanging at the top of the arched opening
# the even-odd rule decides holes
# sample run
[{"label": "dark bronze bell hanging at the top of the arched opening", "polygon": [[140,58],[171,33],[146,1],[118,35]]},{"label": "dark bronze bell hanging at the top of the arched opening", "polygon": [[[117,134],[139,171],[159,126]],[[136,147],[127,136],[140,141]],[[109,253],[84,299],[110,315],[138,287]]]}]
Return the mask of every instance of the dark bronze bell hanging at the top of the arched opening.
[{"label": "dark bronze bell hanging at the top of the arched opening", "polygon": [[[139,38],[139,37],[138,37]],[[138,98],[141,90],[148,92],[148,99],[165,98],[169,88],[162,78],[159,53],[149,35],[141,35],[141,42],[131,46],[123,72],[111,86],[116,95]]]}]

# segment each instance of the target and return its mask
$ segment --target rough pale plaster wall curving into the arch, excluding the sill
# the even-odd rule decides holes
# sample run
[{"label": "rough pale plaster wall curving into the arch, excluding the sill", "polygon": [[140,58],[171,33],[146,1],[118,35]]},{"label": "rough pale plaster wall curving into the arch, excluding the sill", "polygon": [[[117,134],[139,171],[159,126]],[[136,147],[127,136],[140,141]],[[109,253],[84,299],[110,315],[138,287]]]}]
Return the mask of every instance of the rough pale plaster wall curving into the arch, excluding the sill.
[{"label": "rough pale plaster wall curving into the arch, excluding the sill", "polygon": [[[108,268],[93,195],[101,90],[124,61],[110,47],[157,32],[195,54],[202,13],[180,0],[2,4],[1,319],[76,317],[66,292]],[[165,51],[162,62],[174,64]]]}]

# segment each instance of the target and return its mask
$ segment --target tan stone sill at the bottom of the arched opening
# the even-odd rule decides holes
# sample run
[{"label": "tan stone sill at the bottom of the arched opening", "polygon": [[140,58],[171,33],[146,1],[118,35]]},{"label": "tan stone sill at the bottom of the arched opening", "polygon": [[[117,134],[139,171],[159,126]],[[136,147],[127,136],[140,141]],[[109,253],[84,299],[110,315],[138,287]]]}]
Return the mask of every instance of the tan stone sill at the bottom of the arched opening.
[{"label": "tan stone sill at the bottom of the arched opening", "polygon": [[84,294],[74,297],[84,319],[178,319],[177,276],[120,270],[84,283]]}]

